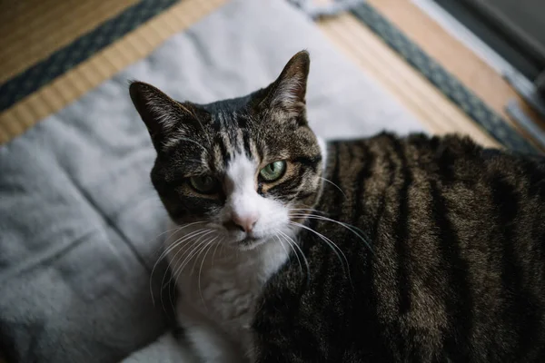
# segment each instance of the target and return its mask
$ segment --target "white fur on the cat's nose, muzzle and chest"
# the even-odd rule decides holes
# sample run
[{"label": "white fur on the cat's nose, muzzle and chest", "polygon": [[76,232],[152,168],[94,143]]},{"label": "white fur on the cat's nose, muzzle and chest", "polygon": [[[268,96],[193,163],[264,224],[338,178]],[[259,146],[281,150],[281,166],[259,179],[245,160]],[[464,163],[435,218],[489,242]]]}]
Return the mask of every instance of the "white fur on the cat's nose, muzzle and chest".
[{"label": "white fur on the cat's nose, muzzle and chest", "polygon": [[[169,242],[168,259],[181,292],[179,323],[205,362],[251,361],[256,299],[264,282],[287,260],[286,236],[294,237],[288,209],[255,190],[257,168],[257,162],[244,154],[234,155],[225,175],[227,200],[218,221],[188,226]],[[248,233],[223,228],[233,213],[257,215],[251,237],[259,240],[251,247],[239,245]]]}]

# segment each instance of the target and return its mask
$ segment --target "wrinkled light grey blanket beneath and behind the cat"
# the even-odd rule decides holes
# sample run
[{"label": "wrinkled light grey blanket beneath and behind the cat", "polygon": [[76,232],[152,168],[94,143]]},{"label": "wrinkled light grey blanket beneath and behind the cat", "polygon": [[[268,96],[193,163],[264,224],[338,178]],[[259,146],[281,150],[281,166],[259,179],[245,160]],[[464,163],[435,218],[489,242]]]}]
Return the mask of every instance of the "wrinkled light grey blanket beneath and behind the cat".
[{"label": "wrinkled light grey blanket beneath and behind the cat", "polygon": [[290,5],[237,0],[0,147],[2,349],[24,362],[104,363],[134,352],[130,361],[169,361],[173,342],[153,343],[167,328],[164,267],[150,284],[166,215],[127,80],[207,103],[272,82],[303,48],[318,133],[421,130]]}]

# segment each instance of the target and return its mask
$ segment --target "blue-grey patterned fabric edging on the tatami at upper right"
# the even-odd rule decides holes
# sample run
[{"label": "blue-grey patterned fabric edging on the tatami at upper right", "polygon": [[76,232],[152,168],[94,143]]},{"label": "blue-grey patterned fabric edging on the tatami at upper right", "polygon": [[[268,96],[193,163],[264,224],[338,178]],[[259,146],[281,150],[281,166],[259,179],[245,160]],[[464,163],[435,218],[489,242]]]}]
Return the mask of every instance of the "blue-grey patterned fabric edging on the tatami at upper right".
[{"label": "blue-grey patterned fabric edging on the tatami at upper right", "polygon": [[516,152],[539,153],[538,150],[516,132],[497,113],[492,111],[481,99],[465,87],[455,76],[447,72],[421,48],[401,33],[371,5],[362,4],[352,9],[364,25],[381,37],[396,53],[421,74],[423,74],[451,102],[458,105],[475,123],[490,133],[502,145]]}]

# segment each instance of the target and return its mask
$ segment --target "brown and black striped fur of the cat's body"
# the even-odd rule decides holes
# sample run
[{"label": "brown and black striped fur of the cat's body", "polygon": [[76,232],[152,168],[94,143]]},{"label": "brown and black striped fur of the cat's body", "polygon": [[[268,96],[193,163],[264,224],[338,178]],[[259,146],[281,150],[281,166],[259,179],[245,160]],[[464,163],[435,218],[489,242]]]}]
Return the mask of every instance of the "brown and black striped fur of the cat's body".
[{"label": "brown and black striped fur of the cat's body", "polygon": [[358,230],[308,226],[350,274],[302,231],[310,274],[292,259],[269,282],[259,363],[545,361],[544,159],[386,133],[329,155],[342,191],[315,209]]}]

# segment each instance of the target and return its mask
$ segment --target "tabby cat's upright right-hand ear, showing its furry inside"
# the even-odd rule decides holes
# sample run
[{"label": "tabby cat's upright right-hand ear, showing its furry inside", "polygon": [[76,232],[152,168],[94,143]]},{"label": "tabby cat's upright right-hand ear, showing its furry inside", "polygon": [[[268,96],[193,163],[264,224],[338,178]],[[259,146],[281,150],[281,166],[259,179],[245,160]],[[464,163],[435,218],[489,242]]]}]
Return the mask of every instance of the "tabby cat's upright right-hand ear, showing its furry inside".
[{"label": "tabby cat's upright right-hand ear, showing its furry inside", "polygon": [[307,78],[311,58],[307,51],[292,56],[280,76],[269,87],[262,104],[266,107],[280,107],[291,114],[302,113],[305,109]]}]

